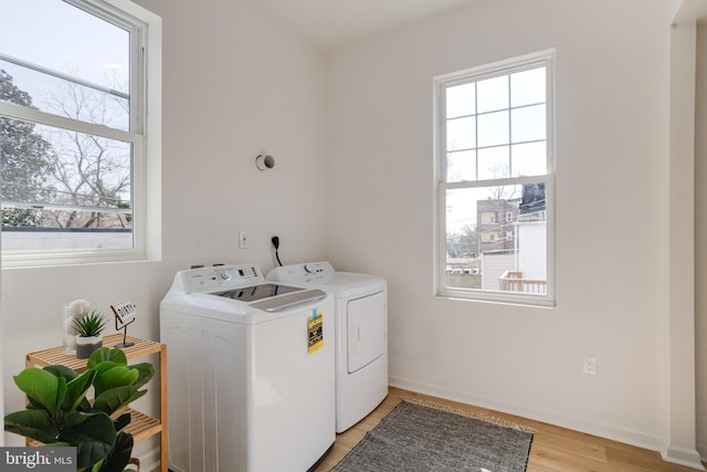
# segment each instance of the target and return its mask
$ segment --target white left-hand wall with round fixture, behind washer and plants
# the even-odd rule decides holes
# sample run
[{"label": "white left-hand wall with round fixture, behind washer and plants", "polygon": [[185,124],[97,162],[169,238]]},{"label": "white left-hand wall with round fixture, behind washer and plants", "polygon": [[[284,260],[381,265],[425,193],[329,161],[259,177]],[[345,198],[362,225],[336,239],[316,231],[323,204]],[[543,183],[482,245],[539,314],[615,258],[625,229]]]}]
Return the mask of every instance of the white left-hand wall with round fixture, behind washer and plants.
[{"label": "white left-hand wall with round fixture, behind washer and plants", "polygon": [[[3,271],[6,412],[23,407],[11,376],[24,354],[61,344],[65,302],[109,310],[128,297],[140,313],[129,333],[158,339],[177,270],[267,271],[273,234],[283,262],[325,256],[321,53],[250,0],[138,2],[163,20],[162,261]],[[274,169],[256,169],[263,151]]]}]

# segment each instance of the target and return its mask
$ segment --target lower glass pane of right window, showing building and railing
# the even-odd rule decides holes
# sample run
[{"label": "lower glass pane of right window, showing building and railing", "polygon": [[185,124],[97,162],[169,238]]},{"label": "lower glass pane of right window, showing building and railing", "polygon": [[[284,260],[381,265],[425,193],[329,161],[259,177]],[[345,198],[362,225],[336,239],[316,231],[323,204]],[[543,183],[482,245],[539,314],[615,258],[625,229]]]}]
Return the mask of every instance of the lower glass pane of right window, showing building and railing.
[{"label": "lower glass pane of right window, showing building and railing", "polygon": [[454,289],[545,294],[545,186],[446,192],[446,283]]}]

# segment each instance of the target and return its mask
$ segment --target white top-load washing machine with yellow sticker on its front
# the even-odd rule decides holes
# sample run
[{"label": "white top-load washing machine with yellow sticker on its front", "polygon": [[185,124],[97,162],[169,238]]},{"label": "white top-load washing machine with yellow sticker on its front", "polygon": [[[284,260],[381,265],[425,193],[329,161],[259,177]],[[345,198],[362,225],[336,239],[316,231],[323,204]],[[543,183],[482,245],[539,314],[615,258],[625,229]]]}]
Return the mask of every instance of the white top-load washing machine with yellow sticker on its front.
[{"label": "white top-load washing machine with yellow sticker on its front", "polygon": [[313,469],[336,439],[334,312],[255,265],[177,273],[160,304],[169,469]]}]

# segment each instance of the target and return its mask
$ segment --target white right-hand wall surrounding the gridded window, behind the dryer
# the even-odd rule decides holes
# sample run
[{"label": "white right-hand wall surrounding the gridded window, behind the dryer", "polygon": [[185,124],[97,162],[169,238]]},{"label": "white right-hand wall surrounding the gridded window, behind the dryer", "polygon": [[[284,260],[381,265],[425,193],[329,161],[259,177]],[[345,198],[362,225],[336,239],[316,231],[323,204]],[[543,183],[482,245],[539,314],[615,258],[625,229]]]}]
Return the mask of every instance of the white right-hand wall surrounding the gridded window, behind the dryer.
[{"label": "white right-hand wall surrounding the gridded window, behind the dryer", "polygon": [[[393,384],[664,449],[666,12],[479,0],[328,57],[329,259],[388,279]],[[432,77],[548,48],[557,307],[437,298]]]}]

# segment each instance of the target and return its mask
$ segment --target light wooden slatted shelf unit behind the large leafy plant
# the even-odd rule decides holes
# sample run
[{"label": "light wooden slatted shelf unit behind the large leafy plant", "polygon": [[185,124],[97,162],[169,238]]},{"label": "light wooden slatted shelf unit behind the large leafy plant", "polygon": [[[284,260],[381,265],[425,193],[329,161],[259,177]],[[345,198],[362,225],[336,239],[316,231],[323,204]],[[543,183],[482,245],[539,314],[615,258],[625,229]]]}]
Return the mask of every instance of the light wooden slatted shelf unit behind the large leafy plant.
[{"label": "light wooden slatted shelf unit behind the large leafy plant", "polygon": [[[126,432],[133,434],[135,442],[141,441],[154,434],[159,433],[159,455],[160,470],[167,472],[167,345],[156,343],[154,340],[140,339],[138,337],[127,336],[128,343],[135,343],[129,347],[122,347],[125,357],[129,360],[148,356],[150,354],[159,355],[159,418],[152,418],[137,410],[128,408],[130,413],[130,424],[125,429]],[[104,347],[115,347],[116,344],[123,343],[122,334],[113,334],[103,338]],[[87,359],[78,359],[74,355],[66,355],[62,347],[52,347],[36,353],[30,353],[25,356],[25,367],[45,367],[51,365],[63,365],[81,373],[86,369]]]}]

